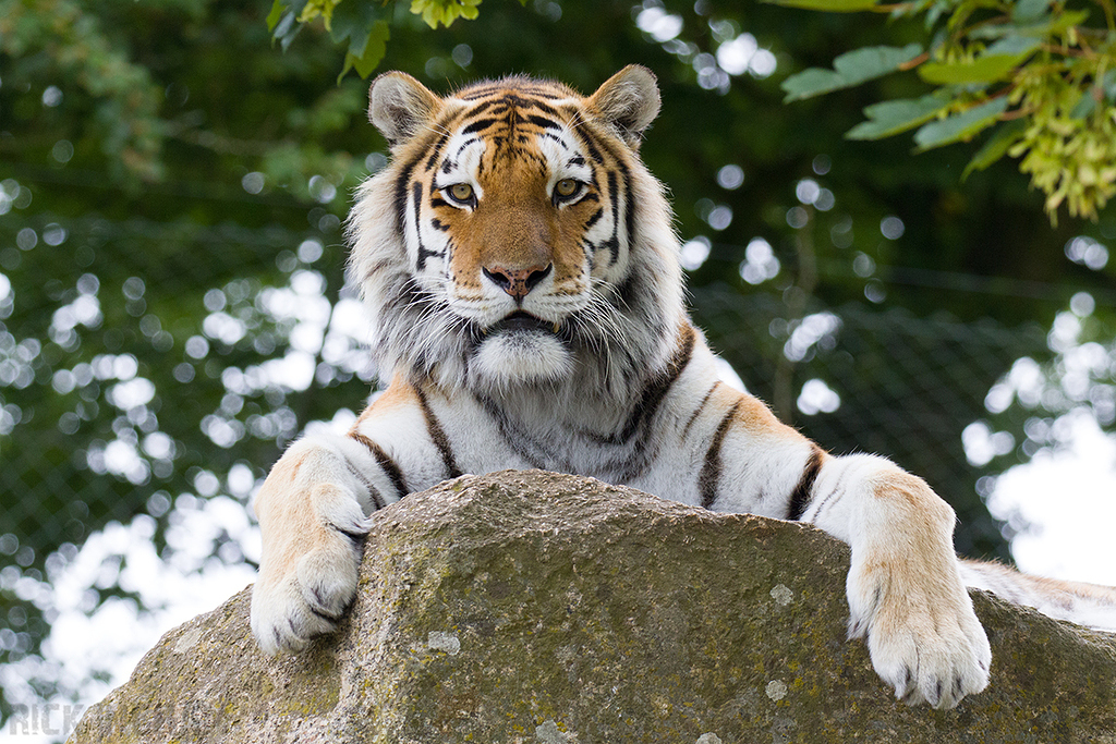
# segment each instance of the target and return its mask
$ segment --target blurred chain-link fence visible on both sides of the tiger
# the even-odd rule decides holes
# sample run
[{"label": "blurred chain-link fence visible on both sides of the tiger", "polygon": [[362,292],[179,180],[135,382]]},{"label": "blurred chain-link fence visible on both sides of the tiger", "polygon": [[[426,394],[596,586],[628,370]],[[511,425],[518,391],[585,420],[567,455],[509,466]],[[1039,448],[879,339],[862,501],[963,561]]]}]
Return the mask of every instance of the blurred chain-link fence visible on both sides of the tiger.
[{"label": "blurred chain-link fence visible on both sides of the tiger", "polygon": [[[4,190],[18,207],[19,185]],[[320,210],[305,231],[0,216],[0,669],[39,653],[54,582],[90,534],[147,515],[167,558],[183,503],[247,509],[308,422],[363,407],[373,370],[343,267],[339,222]],[[959,548],[1002,555],[961,432],[1016,359],[1045,352],[1045,331],[867,302],[788,317],[764,287],[691,292],[749,389],[831,451],[925,476],[962,516]],[[206,545],[248,560],[220,530]],[[89,611],[141,602],[121,560],[86,589]],[[19,689],[0,676],[4,716],[30,695],[76,694],[37,668]]]}]

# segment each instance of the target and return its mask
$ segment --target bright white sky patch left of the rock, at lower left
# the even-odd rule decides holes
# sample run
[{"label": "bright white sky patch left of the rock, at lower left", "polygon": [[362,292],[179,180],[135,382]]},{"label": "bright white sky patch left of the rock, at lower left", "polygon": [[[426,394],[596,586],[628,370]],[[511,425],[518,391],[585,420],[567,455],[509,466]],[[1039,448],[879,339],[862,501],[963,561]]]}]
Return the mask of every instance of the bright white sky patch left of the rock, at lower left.
[{"label": "bright white sky patch left of the rock, at lower left", "polygon": [[[83,703],[77,709],[64,702],[50,709],[37,706],[30,719],[13,716],[0,729],[0,743],[58,741],[50,734],[75,723],[80,709],[123,684],[163,634],[218,607],[254,579],[250,567],[212,557],[214,540],[224,530],[234,550],[259,560],[259,528],[239,501],[228,496],[182,499],[171,520],[175,526],[167,534],[173,549],[170,560],[155,553],[151,543],[154,520],[144,514],[128,525],[113,523],[92,534],[55,577],[49,602],[58,615],[42,646],[42,657],[0,666],[0,675],[13,703],[35,699],[28,682],[37,676],[60,680]],[[131,600],[109,599],[90,613],[96,601],[94,588],[117,581],[122,588],[136,591],[151,610],[141,612]],[[17,586],[17,593],[30,599],[46,590],[46,584]],[[94,674],[107,674],[110,680],[97,682]]]}]

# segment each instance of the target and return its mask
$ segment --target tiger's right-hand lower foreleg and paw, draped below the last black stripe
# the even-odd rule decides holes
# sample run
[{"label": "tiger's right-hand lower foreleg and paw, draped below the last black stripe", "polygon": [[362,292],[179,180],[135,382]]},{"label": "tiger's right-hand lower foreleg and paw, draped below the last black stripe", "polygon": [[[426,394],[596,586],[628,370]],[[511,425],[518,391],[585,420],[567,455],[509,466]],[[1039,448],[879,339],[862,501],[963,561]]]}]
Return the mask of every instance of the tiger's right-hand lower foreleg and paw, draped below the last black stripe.
[{"label": "tiger's right-hand lower foreleg and paw, draped below the last black stripe", "polygon": [[953,510],[882,457],[826,460],[802,519],[852,545],[849,637],[910,704],[951,708],[988,686],[992,653],[953,550]]}]

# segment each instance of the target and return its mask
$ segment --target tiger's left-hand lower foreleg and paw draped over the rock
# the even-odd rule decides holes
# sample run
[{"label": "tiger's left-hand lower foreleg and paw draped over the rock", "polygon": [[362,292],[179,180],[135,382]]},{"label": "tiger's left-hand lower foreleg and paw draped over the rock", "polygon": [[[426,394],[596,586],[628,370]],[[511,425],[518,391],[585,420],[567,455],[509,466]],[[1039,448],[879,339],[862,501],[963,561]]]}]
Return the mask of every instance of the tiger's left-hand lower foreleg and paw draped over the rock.
[{"label": "tiger's left-hand lower foreleg and paw draped over the rock", "polygon": [[308,437],[276,463],[254,509],[263,539],[251,622],[268,654],[297,651],[336,627],[356,593],[374,508],[366,451],[346,437]]}]

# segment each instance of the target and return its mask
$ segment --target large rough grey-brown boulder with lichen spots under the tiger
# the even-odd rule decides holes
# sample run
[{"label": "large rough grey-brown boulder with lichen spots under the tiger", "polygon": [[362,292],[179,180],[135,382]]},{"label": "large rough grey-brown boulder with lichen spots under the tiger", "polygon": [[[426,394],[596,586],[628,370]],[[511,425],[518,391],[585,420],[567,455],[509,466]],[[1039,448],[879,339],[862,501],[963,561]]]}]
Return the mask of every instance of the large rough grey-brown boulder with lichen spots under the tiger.
[{"label": "large rough grey-brown boulder with lichen spots under the tiger", "polygon": [[246,589],[169,632],[73,742],[1116,744],[1116,637],[974,592],[992,685],[896,702],[845,640],[847,549],[540,472],[382,511],[340,631],[269,658]]}]

